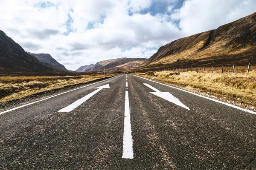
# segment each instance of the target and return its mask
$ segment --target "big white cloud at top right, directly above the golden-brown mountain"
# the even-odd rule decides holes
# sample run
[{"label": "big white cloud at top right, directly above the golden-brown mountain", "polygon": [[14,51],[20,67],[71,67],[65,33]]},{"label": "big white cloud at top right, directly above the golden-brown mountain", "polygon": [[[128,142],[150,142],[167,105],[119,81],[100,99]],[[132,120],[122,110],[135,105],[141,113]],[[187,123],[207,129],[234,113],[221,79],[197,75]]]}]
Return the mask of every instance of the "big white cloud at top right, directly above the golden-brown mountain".
[{"label": "big white cloud at top right, directly above the golden-brown mountain", "polygon": [[172,18],[188,36],[216,29],[256,11],[255,0],[186,0]]}]

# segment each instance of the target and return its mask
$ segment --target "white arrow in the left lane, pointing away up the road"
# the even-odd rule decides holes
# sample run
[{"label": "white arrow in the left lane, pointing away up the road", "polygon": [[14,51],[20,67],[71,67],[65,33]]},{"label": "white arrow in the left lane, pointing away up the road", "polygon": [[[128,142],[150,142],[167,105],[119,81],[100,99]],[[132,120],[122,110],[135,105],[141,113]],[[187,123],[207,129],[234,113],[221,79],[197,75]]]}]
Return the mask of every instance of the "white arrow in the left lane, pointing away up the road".
[{"label": "white arrow in the left lane, pointing away up the road", "polygon": [[93,91],[90,94],[87,94],[83,98],[78,99],[76,102],[73,102],[71,105],[68,105],[66,108],[63,108],[63,109],[59,110],[58,112],[70,112],[70,111],[73,111],[75,108],[77,108],[79,105],[81,105],[86,100],[90,99],[90,97],[92,97],[94,94],[96,94],[99,91],[101,91],[103,88],[109,88],[109,85],[108,84],[107,85],[102,85],[102,86],[97,87],[97,88],[98,89],[96,91]]}]

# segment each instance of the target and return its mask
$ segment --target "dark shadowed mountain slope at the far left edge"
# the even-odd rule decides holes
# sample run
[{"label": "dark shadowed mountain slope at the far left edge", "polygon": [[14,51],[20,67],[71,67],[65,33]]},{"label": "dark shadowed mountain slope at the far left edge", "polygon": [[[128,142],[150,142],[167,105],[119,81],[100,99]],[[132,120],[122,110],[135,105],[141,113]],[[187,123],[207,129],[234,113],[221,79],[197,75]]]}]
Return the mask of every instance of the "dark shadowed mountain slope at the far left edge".
[{"label": "dark shadowed mountain slope at the far left edge", "polygon": [[0,76],[76,75],[40,62],[0,30]]}]

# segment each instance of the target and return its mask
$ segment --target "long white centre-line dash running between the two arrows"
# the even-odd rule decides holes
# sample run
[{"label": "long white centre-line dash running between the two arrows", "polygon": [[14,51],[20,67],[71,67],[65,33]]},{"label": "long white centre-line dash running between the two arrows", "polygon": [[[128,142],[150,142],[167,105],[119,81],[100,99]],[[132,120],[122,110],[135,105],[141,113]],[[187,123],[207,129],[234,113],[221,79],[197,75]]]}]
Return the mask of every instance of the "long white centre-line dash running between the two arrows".
[{"label": "long white centre-line dash running between the two arrows", "polygon": [[131,118],[128,91],[125,91],[125,121],[122,158],[133,159],[132,136],[131,136]]}]

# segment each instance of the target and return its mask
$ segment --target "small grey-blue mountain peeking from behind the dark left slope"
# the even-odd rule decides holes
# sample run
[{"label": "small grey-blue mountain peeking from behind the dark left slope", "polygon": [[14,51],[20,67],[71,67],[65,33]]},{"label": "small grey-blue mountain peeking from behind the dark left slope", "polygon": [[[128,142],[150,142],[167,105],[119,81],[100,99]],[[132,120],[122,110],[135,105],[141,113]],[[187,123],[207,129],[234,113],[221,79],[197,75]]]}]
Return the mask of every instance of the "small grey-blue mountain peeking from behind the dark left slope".
[{"label": "small grey-blue mountain peeking from behind the dark left slope", "polygon": [[44,54],[44,53],[40,53],[40,54],[34,54],[34,53],[30,53],[27,52],[28,54],[36,57],[39,61],[47,63],[49,65],[52,65],[54,67],[58,67],[64,70],[67,70],[64,65],[60,64],[59,62],[57,62],[54,58],[52,58],[52,56],[50,54]]}]

